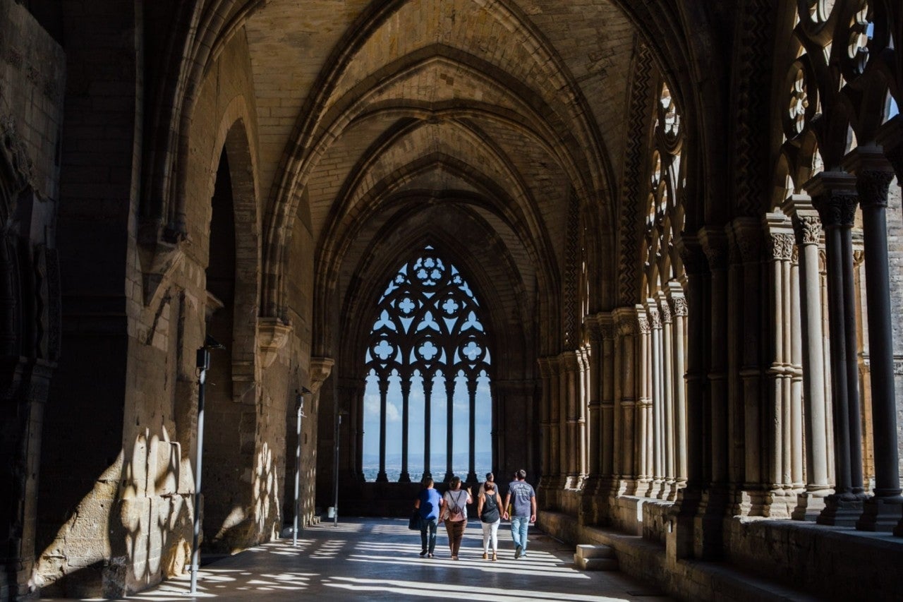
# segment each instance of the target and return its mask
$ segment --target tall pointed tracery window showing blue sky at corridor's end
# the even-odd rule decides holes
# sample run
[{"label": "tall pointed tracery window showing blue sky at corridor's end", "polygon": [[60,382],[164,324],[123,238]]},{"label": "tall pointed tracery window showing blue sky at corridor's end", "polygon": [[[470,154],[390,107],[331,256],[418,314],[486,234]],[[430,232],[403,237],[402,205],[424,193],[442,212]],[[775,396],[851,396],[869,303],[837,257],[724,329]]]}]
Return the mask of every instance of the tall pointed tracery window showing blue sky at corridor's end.
[{"label": "tall pointed tracery window showing blue sky at corridor's end", "polygon": [[491,469],[491,357],[481,311],[461,272],[432,246],[388,283],[365,358],[368,480],[409,482],[444,464],[447,481],[466,461],[475,482]]}]

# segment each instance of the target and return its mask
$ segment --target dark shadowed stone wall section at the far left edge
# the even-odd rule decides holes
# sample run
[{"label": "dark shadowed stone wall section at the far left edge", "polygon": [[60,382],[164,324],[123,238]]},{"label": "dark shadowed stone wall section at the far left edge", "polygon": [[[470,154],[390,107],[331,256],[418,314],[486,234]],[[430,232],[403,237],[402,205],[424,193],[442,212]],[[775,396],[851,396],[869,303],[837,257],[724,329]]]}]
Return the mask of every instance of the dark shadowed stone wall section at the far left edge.
[{"label": "dark shadowed stone wall section at the far left edge", "polygon": [[33,15],[0,3],[0,599],[32,589],[39,450],[60,352],[65,74],[61,47]]}]

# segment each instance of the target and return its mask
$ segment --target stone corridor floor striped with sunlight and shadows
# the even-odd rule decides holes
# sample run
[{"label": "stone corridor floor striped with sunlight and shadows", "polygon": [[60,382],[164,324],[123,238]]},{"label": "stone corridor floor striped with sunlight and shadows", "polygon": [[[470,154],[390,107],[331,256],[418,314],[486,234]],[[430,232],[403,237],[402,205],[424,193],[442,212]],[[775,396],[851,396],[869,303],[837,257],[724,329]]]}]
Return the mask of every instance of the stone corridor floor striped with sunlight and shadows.
[{"label": "stone corridor floor striped with sunlight and shadows", "polygon": [[[126,598],[133,600],[399,600],[515,599],[667,600],[648,585],[619,572],[583,572],[573,566],[573,548],[531,528],[528,555],[514,559],[508,523],[498,530],[497,562],[482,560],[479,522],[470,522],[460,560],[451,560],[440,527],[436,558],[421,559],[420,535],[400,519],[342,519],[303,531],[291,540],[258,546],[202,567],[198,593],[189,577],[166,581]],[[44,598],[50,599],[50,598]]]}]

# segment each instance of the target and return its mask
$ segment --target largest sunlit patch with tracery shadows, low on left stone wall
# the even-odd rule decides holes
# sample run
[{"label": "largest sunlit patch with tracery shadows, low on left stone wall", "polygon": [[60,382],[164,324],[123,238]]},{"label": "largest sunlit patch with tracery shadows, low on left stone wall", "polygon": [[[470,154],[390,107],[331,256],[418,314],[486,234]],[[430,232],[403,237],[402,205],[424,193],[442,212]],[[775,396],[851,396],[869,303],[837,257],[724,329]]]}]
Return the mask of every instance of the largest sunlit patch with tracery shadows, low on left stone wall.
[{"label": "largest sunlit patch with tracery shadows, low on left stone wall", "polygon": [[98,477],[35,564],[52,597],[118,597],[181,573],[191,553],[193,475],[165,428],[135,438]]}]

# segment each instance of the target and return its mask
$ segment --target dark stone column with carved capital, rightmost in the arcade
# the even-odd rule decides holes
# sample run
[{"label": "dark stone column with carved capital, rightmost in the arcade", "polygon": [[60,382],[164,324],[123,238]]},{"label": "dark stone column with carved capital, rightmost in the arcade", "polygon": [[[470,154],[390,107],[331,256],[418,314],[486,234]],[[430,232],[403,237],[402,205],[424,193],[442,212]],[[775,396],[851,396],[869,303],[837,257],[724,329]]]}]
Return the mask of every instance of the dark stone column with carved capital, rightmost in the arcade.
[{"label": "dark stone column with carved capital, rightmost in the arcade", "polygon": [[897,447],[897,399],[894,387],[886,215],[888,188],[894,172],[879,146],[857,147],[847,157],[844,167],[856,173],[856,189],[862,207],[875,453],[874,496],[865,504],[865,512],[856,523],[856,528],[862,531],[893,531],[900,521],[903,509]]}]

